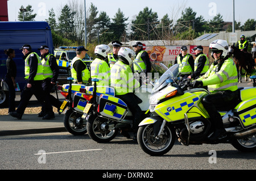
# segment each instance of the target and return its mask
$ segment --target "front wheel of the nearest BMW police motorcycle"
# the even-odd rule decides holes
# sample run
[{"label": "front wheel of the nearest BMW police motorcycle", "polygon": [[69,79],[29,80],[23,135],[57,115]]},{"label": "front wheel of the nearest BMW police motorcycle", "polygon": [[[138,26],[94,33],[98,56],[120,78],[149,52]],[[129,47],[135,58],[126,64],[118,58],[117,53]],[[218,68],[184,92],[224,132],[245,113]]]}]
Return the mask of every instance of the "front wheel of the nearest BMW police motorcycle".
[{"label": "front wheel of the nearest BMW police motorcycle", "polygon": [[172,149],[175,142],[175,131],[165,126],[159,138],[154,136],[154,124],[139,127],[137,138],[141,149],[151,155],[159,156],[166,154]]}]

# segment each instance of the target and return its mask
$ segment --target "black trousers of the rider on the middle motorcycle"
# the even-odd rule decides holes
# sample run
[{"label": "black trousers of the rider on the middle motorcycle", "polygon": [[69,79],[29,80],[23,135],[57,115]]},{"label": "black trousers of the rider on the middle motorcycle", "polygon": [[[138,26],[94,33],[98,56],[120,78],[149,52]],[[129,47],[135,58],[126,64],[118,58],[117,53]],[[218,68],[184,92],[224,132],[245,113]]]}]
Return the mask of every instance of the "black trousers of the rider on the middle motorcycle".
[{"label": "black trousers of the rider on the middle motorcycle", "polygon": [[135,98],[134,93],[127,93],[124,95],[116,95],[117,98],[122,99],[123,102],[127,104],[129,110],[133,113],[133,131],[137,133],[139,128],[139,123],[141,122],[141,113],[142,110],[138,106],[137,99]]}]

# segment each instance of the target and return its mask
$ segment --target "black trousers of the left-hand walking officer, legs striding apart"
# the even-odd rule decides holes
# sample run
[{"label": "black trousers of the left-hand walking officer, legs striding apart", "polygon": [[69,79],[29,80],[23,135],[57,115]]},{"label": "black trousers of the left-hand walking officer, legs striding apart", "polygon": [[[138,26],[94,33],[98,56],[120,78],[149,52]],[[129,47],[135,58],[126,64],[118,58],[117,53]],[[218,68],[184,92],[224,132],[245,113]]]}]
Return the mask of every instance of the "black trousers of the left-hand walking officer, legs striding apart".
[{"label": "black trousers of the left-hand walking officer, legs striding apart", "polygon": [[21,114],[24,113],[32,95],[35,95],[36,99],[38,99],[43,109],[46,110],[46,113],[52,112],[52,105],[49,99],[46,99],[46,94],[43,91],[42,83],[42,81],[34,81],[34,83],[32,83],[31,88],[28,88],[27,85],[24,87],[20,95],[20,102],[16,112]]}]

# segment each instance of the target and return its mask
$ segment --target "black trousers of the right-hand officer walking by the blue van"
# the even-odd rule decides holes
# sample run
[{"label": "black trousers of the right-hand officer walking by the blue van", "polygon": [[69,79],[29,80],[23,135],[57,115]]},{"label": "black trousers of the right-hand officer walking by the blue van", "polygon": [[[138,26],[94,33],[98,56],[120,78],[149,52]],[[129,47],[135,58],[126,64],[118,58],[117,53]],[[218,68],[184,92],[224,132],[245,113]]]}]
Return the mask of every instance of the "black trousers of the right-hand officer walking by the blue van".
[{"label": "black trousers of the right-hand officer walking by the blue van", "polygon": [[[50,100],[50,103],[52,106],[56,108],[60,108],[62,103],[58,99],[56,99],[55,96],[50,94],[53,86],[54,85],[51,84],[51,78],[44,79],[42,83],[42,88],[46,94],[46,99]],[[42,112],[44,112],[43,107],[42,107]]]}]

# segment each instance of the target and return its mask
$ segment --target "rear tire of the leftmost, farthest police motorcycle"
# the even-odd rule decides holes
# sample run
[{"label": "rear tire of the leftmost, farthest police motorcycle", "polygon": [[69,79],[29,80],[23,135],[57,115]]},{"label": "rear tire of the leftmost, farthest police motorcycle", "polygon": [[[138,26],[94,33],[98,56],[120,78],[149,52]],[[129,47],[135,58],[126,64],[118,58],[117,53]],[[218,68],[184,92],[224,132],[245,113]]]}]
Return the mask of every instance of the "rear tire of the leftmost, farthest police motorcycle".
[{"label": "rear tire of the leftmost, farthest police motorcycle", "polygon": [[86,124],[77,125],[76,120],[82,117],[82,113],[74,112],[72,109],[67,110],[64,115],[64,127],[73,135],[79,136],[87,133]]}]

